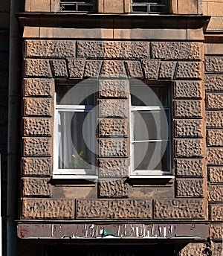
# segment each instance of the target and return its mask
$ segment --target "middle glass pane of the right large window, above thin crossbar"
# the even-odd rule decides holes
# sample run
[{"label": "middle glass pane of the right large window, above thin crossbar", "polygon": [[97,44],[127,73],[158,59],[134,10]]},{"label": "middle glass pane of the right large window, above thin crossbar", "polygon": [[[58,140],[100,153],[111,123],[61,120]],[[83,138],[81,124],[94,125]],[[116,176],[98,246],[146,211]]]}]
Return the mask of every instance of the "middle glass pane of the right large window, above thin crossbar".
[{"label": "middle glass pane of the right large window, above thin crossbar", "polygon": [[168,112],[168,110],[133,112],[133,140],[167,140],[169,138]]}]

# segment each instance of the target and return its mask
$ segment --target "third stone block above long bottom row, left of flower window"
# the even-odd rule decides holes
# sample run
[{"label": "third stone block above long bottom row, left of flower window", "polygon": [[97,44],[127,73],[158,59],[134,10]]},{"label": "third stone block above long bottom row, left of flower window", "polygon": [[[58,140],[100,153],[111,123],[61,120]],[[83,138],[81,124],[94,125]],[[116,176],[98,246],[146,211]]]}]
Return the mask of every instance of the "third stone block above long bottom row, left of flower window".
[{"label": "third stone block above long bottom row, left of flower window", "polygon": [[24,156],[51,156],[51,138],[24,138]]}]

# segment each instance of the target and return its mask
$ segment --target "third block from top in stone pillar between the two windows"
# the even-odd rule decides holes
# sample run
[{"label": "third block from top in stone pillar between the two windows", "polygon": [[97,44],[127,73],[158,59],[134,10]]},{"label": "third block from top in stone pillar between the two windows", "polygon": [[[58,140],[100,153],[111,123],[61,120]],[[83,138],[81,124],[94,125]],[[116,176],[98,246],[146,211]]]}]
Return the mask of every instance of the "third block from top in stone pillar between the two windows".
[{"label": "third block from top in stone pillar between the two windows", "polygon": [[100,137],[128,137],[128,122],[123,119],[103,119],[99,123]]}]

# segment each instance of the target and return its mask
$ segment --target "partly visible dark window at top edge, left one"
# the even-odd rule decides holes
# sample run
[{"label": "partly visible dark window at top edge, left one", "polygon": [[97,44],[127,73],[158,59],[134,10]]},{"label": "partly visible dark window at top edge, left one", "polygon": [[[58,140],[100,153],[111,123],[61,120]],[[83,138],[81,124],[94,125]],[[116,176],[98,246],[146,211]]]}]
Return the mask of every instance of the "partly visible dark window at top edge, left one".
[{"label": "partly visible dark window at top edge, left one", "polygon": [[90,13],[95,11],[95,0],[59,0],[60,10]]}]

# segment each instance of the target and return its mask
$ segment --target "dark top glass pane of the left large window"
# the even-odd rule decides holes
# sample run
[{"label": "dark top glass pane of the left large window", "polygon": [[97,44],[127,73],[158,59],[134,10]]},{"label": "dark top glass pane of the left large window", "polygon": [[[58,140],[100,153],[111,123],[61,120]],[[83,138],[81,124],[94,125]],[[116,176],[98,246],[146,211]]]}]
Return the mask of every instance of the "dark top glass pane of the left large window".
[{"label": "dark top glass pane of the left large window", "polygon": [[59,105],[94,106],[95,95],[94,85],[56,85],[56,104]]}]

